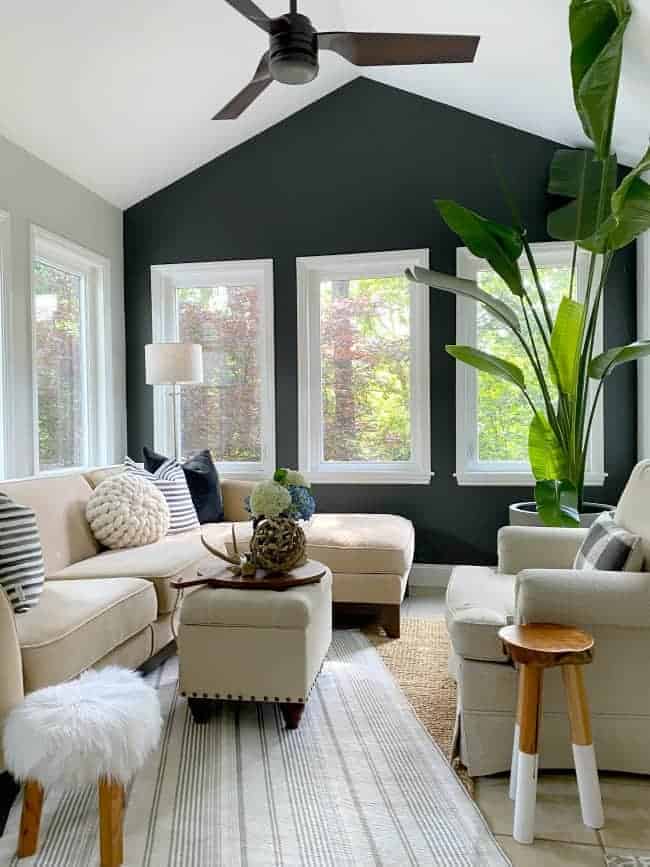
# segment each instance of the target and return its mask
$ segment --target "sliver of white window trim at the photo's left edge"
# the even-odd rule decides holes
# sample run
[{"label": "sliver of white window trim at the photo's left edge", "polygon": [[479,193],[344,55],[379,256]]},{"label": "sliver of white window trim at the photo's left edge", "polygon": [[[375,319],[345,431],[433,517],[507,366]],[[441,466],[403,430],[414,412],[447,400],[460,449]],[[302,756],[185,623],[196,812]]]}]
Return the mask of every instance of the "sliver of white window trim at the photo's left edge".
[{"label": "sliver of white window trim at the photo's left edge", "polygon": [[7,211],[0,211],[0,478],[9,469],[7,455],[13,442],[13,413],[9,359],[11,343],[11,221]]}]

